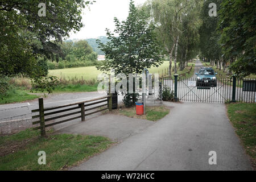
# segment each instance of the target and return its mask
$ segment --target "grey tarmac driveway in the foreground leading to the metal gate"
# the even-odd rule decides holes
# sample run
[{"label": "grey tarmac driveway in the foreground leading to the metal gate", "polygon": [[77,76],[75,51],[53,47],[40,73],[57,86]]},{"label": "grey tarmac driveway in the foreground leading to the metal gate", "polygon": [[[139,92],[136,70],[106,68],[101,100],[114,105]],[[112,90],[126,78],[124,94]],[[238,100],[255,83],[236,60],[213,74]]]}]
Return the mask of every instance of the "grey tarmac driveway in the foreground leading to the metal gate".
[{"label": "grey tarmac driveway in the foreground leading to the metal gate", "polygon": [[224,104],[165,104],[167,117],[71,170],[251,170]]}]

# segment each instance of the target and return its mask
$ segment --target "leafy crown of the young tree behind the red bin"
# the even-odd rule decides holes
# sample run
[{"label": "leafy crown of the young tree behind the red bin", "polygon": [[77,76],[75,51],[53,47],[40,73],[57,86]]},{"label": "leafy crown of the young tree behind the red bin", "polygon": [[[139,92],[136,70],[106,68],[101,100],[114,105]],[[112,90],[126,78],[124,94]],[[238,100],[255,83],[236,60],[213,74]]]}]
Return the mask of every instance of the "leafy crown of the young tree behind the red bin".
[{"label": "leafy crown of the young tree behind the red bin", "polygon": [[103,44],[97,40],[99,47],[106,53],[104,65],[97,68],[103,72],[115,69],[115,73],[142,73],[144,68],[158,67],[163,63],[160,48],[156,43],[154,26],[147,23],[147,16],[138,11],[130,1],[129,15],[125,21],[114,18],[114,36],[109,29],[106,35],[109,42]]}]

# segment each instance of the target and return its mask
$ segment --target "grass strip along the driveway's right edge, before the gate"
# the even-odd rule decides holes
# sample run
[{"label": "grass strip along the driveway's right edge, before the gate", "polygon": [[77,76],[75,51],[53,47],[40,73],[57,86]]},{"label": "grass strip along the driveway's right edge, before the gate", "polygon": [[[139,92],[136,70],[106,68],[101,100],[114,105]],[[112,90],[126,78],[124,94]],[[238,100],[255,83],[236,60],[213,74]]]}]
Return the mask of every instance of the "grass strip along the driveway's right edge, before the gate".
[{"label": "grass strip along the driveway's right edge, before the gate", "polygon": [[226,105],[228,117],[251,157],[256,170],[256,104],[236,103]]}]

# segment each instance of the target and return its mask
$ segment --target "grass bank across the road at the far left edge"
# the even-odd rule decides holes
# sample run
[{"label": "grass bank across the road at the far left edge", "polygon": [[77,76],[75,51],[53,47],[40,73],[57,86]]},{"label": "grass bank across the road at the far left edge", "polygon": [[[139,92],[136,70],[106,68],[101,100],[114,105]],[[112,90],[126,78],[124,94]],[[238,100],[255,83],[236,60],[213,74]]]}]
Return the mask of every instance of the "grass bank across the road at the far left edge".
[{"label": "grass bank across the road at the far left edge", "polygon": [[36,96],[34,94],[29,94],[29,91],[27,90],[21,90],[21,89],[10,89],[6,96],[3,98],[0,98],[0,104],[10,104],[13,102],[23,102],[28,100],[34,100],[35,98],[38,98],[39,96]]}]

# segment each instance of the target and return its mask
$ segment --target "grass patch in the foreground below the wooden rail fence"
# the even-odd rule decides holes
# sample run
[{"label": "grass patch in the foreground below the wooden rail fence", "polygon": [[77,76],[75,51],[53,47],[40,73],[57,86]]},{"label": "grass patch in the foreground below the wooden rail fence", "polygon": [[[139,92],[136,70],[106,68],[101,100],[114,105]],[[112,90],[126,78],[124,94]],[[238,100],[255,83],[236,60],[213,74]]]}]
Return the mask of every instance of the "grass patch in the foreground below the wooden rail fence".
[{"label": "grass patch in the foreground below the wooden rail fence", "polygon": [[[105,137],[58,134],[38,137],[30,129],[1,137],[0,171],[60,170],[106,150],[112,142]],[[46,152],[46,165],[39,165],[39,151]]]}]

